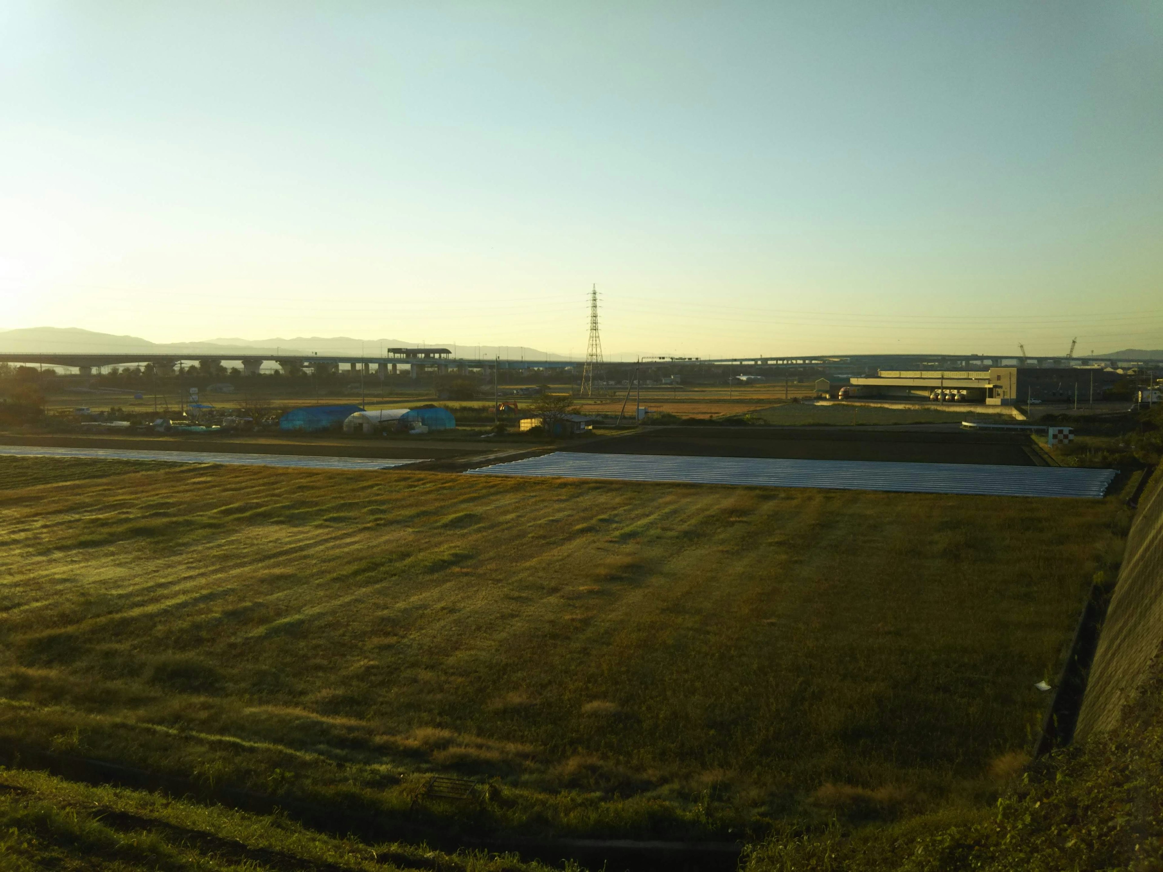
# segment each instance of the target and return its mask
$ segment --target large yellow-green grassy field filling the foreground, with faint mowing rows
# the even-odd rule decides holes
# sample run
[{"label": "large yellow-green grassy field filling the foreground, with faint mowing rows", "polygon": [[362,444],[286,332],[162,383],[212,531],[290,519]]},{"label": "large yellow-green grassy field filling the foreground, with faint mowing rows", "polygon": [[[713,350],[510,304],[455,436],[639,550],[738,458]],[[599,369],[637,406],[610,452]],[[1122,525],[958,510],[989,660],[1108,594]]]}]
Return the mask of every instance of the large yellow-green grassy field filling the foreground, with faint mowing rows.
[{"label": "large yellow-green grassy field filling the foreground, with faint mowing rows", "polygon": [[[854,791],[979,796],[1123,523],[1114,498],[63,469],[0,458],[0,736],[444,831],[734,838]],[[426,802],[435,771],[487,801]]]}]

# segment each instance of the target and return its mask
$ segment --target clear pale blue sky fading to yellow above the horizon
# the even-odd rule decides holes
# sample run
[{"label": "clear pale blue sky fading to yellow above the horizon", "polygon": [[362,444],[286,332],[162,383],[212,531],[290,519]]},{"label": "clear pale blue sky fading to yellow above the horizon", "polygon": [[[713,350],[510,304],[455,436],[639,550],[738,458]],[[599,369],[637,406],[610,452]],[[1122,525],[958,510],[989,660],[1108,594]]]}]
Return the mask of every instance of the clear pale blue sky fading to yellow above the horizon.
[{"label": "clear pale blue sky fading to yellow above the horizon", "polygon": [[0,3],[0,329],[1163,348],[1163,5]]}]

